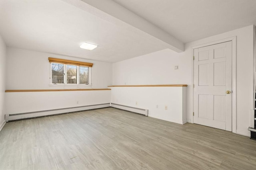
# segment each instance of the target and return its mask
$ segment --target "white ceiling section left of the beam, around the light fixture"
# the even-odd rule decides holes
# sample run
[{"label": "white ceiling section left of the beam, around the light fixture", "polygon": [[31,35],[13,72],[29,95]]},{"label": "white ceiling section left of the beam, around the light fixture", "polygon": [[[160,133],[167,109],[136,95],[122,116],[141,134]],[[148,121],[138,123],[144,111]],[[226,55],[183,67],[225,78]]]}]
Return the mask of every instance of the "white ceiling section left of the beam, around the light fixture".
[{"label": "white ceiling section left of the beam, around the light fixture", "polygon": [[[0,1],[0,34],[9,47],[106,62],[166,48],[150,36],[59,0]],[[98,47],[92,51],[81,49],[83,42]]]}]

